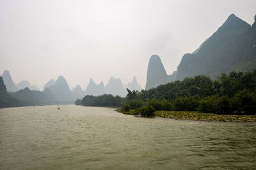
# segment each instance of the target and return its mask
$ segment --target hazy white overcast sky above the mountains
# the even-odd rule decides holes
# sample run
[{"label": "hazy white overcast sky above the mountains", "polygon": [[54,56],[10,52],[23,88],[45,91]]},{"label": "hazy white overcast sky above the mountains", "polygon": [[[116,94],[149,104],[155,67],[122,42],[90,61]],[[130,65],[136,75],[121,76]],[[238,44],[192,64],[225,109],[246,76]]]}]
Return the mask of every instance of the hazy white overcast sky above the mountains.
[{"label": "hazy white overcast sky above the mountains", "polygon": [[41,90],[59,75],[70,89],[134,75],[145,88],[152,54],[172,74],[231,13],[253,24],[256,1],[0,0],[0,74]]}]

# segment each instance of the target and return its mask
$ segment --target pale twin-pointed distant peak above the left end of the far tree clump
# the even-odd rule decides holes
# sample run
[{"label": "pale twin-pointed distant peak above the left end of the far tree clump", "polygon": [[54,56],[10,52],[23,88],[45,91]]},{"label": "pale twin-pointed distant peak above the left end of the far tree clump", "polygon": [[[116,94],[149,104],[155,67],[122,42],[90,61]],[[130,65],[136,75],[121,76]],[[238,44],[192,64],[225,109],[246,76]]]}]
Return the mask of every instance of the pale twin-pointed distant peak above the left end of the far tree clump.
[{"label": "pale twin-pointed distant peak above the left end of the far tree clump", "polygon": [[106,89],[104,87],[103,82],[99,83],[99,85],[96,85],[96,83],[91,78],[85,90],[85,94],[92,95],[92,96],[99,96],[102,94],[106,94]]}]

